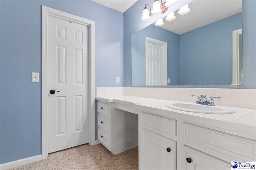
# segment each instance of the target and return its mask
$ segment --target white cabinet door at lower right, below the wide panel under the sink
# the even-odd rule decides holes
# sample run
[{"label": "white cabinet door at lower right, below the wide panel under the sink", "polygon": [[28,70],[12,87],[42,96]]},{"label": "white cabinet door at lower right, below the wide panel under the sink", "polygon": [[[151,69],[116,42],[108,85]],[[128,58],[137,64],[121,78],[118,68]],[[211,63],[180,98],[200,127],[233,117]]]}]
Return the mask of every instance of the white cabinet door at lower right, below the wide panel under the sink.
[{"label": "white cabinet door at lower right, below the wide panel under the sink", "polygon": [[225,170],[230,169],[230,164],[213,156],[184,146],[185,170]]}]

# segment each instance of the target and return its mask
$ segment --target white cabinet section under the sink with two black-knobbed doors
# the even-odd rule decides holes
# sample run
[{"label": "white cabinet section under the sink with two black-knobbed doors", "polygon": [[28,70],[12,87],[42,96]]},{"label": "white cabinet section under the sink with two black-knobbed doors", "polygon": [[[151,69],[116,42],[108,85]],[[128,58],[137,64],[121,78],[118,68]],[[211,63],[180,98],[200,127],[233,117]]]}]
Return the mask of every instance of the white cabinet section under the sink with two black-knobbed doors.
[{"label": "white cabinet section under the sink with two black-knobbed doors", "polygon": [[195,124],[139,111],[139,169],[224,170],[256,160],[255,140]]}]

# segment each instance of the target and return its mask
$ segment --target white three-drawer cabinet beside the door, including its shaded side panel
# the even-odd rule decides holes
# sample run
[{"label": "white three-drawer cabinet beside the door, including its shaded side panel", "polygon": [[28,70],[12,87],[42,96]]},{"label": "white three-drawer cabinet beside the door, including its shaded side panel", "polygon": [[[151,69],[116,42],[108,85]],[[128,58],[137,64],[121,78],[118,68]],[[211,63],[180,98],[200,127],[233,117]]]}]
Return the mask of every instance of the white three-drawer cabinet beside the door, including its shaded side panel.
[{"label": "white three-drawer cabinet beside the door, including its shaded side panel", "polygon": [[138,115],[116,109],[113,102],[97,102],[98,141],[113,154],[138,146]]}]

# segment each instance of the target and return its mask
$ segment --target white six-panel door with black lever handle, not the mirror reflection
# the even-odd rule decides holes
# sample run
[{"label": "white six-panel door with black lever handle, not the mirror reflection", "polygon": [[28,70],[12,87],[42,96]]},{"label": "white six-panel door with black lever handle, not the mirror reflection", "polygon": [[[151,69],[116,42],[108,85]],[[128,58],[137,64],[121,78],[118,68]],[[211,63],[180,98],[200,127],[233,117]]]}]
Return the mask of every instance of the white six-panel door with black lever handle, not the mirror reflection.
[{"label": "white six-panel door with black lever handle, not the mirror reflection", "polygon": [[51,153],[89,142],[88,26],[49,16],[47,49]]}]

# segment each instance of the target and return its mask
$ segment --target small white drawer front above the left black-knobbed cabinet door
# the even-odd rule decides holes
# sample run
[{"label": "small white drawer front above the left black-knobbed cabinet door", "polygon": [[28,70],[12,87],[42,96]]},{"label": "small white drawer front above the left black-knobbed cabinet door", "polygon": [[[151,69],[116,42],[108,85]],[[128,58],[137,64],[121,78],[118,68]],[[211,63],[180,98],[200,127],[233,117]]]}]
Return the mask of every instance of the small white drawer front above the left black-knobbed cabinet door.
[{"label": "small white drawer front above the left black-knobbed cabinet door", "polygon": [[141,123],[156,129],[154,130],[156,133],[159,133],[159,131],[164,131],[171,135],[176,135],[176,120],[141,112],[140,121]]}]

